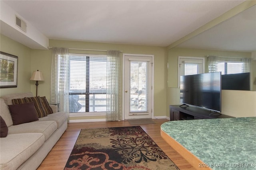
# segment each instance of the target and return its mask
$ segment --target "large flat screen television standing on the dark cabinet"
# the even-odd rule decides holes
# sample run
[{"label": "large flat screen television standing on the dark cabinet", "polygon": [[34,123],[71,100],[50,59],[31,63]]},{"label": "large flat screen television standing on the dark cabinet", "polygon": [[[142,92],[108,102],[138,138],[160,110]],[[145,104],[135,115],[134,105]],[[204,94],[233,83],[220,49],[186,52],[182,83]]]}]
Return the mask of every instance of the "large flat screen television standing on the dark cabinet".
[{"label": "large flat screen television standing on the dark cabinet", "polygon": [[180,102],[221,112],[221,72],[180,76]]}]

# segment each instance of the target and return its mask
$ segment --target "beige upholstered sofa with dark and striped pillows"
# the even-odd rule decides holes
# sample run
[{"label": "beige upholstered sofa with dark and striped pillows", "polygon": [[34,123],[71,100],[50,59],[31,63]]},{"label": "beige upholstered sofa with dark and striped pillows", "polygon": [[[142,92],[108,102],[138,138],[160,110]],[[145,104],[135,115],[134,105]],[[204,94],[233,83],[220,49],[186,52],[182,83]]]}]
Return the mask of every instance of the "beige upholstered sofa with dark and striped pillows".
[{"label": "beige upholstered sofa with dark and striped pillows", "polygon": [[8,126],[7,137],[0,138],[1,170],[36,170],[67,129],[67,114],[57,112],[55,105],[50,105],[52,114],[38,121],[13,125],[8,105],[12,105],[12,99],[24,97],[33,95],[18,93],[0,98],[0,115]]}]

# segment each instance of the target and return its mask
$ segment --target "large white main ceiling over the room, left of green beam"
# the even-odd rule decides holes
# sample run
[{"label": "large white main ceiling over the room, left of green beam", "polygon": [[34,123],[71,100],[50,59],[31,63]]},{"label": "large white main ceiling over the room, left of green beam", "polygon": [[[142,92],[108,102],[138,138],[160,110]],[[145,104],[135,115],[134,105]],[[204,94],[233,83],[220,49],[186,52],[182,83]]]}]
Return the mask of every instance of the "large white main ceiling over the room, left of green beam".
[{"label": "large white main ceiling over the room, left of green beam", "polygon": [[[174,43],[244,2],[244,0],[1,1],[49,39],[162,47]],[[233,28],[230,29],[232,30]],[[220,28],[218,31],[223,30]],[[210,37],[212,38],[212,35],[215,37],[218,33],[210,32]],[[200,39],[203,39],[203,34],[199,35]],[[218,40],[218,37],[215,38]],[[203,42],[195,39],[192,44],[196,44],[195,41]],[[202,45],[202,43],[198,45],[200,44]],[[190,47],[186,42],[183,45]],[[214,46],[214,49],[216,48],[219,47]]]}]

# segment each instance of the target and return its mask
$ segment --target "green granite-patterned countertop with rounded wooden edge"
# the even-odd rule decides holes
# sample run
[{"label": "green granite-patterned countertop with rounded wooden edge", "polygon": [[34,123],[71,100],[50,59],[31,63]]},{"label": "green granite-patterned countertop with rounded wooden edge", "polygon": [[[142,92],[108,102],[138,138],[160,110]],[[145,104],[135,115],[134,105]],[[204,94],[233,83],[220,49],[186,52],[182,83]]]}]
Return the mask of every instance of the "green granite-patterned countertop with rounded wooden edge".
[{"label": "green granite-patterned countertop with rounded wooden edge", "polygon": [[256,117],[169,121],[161,129],[214,170],[256,169]]}]

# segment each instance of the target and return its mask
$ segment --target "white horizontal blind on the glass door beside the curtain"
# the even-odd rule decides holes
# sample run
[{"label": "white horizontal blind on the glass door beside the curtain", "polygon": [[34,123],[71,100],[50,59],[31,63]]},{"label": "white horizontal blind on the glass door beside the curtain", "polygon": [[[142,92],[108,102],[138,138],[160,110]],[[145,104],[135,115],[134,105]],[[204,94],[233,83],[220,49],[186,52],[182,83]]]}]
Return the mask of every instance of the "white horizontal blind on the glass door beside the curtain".
[{"label": "white horizontal blind on the glass door beside the curtain", "polygon": [[148,113],[149,61],[130,61],[129,113]]}]

